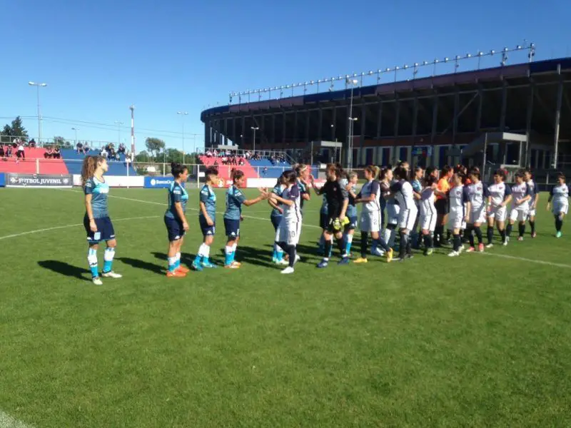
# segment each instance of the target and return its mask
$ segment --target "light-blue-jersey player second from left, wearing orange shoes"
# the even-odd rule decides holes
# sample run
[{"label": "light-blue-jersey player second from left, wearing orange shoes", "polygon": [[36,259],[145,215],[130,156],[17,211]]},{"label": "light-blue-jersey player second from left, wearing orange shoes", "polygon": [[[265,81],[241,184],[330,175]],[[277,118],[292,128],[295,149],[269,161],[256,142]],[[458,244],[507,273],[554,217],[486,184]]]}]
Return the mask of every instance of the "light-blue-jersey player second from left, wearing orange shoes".
[{"label": "light-blue-jersey player second from left, wearing orange shoes", "polygon": [[184,235],[188,231],[188,222],[185,216],[188,193],[184,188],[184,183],[188,178],[188,168],[180,163],[171,163],[171,173],[174,181],[168,188],[168,208],[164,217],[168,234],[168,270],[166,276],[185,277],[188,268],[181,266],[181,248]]}]

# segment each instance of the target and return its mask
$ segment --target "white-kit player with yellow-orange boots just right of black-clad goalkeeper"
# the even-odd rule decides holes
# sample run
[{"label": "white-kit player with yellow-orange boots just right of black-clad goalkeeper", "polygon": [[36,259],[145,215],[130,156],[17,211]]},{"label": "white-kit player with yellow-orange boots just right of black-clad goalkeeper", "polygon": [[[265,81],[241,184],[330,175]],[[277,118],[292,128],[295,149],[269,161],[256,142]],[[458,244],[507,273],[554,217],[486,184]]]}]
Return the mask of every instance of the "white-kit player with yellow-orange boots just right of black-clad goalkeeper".
[{"label": "white-kit player with yellow-orange boots just right of black-clad goalkeeper", "polygon": [[365,168],[365,179],[367,183],[363,185],[360,193],[355,198],[355,203],[362,203],[359,228],[361,230],[361,256],[355,263],[367,263],[368,235],[373,238],[373,254],[378,253],[378,247],[383,248],[387,255],[387,262],[393,260],[393,250],[388,247],[385,240],[380,237],[380,184],[376,180],[379,169],[369,165]]}]

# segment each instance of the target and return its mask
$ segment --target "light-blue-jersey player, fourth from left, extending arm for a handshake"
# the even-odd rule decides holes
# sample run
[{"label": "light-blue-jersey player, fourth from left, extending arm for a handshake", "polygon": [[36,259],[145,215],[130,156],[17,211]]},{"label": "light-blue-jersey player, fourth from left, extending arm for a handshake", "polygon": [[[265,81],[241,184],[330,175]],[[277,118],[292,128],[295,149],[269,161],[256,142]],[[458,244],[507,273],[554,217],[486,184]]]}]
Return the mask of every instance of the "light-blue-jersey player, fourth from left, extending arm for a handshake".
[{"label": "light-blue-jersey player, fourth from left, extending arm for a handshake", "polygon": [[234,260],[236,258],[236,248],[238,240],[240,240],[240,222],[242,217],[242,205],[249,207],[261,200],[268,199],[268,190],[260,189],[258,198],[246,199],[246,196],[240,190],[246,184],[246,177],[241,170],[232,171],[232,185],[226,192],[226,213],[224,213],[224,228],[226,229],[226,260],[224,267],[228,269],[238,269],[241,263]]}]

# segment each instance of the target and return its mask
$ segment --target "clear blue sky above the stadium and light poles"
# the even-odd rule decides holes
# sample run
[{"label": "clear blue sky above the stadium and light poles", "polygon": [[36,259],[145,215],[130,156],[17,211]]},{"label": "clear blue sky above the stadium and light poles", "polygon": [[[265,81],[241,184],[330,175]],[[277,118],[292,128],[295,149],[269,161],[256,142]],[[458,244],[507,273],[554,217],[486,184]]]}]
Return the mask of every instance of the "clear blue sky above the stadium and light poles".
[{"label": "clear blue sky above the stadium and light poles", "polygon": [[[181,148],[203,141],[200,113],[228,93],[522,44],[535,59],[571,56],[571,2],[468,1],[5,1],[1,124],[24,116],[37,136],[128,142],[148,136]],[[490,58],[485,66],[497,65]],[[525,61],[512,55],[508,63]],[[461,69],[461,68],[460,68]],[[443,72],[444,70],[440,70]],[[63,120],[62,120],[63,119]],[[186,148],[192,146],[187,135]]]}]

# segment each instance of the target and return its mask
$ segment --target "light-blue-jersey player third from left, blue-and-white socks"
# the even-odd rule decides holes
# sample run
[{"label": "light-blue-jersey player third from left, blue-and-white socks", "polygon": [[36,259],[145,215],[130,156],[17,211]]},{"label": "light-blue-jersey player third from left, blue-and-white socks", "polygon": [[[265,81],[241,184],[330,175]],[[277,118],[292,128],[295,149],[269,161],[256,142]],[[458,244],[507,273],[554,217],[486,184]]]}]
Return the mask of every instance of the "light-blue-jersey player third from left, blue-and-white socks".
[{"label": "light-blue-jersey player third from left, blue-and-white socks", "polygon": [[201,188],[199,196],[200,213],[198,213],[198,223],[201,225],[203,241],[192,263],[194,270],[202,270],[203,267],[216,267],[210,261],[210,247],[214,242],[214,233],[216,233],[216,193],[212,187],[218,183],[218,170],[211,166],[204,172],[204,177],[206,183]]}]

